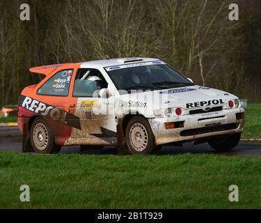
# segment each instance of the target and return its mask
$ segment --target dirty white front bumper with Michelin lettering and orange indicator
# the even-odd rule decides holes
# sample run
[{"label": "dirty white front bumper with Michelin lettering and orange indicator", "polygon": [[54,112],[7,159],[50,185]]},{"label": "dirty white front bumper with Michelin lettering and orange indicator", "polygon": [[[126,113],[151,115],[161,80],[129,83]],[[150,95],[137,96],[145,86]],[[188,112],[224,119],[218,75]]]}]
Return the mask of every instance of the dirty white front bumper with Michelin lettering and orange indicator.
[{"label": "dirty white front bumper with Michelin lettering and orange indicator", "polygon": [[[188,114],[173,118],[150,118],[149,122],[155,135],[155,144],[160,145],[242,132],[244,119],[236,118],[236,114],[242,112],[242,108],[223,109],[220,112]],[[177,121],[184,121],[184,127],[166,129],[165,123]]]}]

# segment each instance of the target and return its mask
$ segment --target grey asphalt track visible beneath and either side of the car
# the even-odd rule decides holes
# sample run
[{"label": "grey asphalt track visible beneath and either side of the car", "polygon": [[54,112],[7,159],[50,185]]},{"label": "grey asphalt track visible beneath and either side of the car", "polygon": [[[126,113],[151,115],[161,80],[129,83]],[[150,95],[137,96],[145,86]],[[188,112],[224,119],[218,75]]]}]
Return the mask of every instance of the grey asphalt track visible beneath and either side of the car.
[{"label": "grey asphalt track visible beneath and either side of the car", "polygon": [[[17,127],[1,127],[0,128],[0,151],[16,151],[21,153],[22,150],[22,135]],[[63,146],[60,153],[81,153],[81,154],[96,154],[116,155],[115,146],[105,146],[102,150],[84,151],[80,152],[79,146]],[[177,155],[182,153],[213,153],[216,151],[208,144],[199,144],[193,146],[192,144],[184,144],[183,146],[164,146],[159,155]],[[261,143],[241,141],[237,147],[226,153],[219,153],[221,155],[243,155],[243,156],[257,156],[261,157]]]}]

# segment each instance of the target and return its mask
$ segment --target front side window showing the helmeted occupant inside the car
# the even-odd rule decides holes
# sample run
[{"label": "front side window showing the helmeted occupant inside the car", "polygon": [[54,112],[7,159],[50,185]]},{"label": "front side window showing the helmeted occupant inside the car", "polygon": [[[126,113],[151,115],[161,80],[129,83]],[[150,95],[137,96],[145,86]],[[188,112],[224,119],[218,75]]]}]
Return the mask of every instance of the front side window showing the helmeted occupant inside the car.
[{"label": "front side window showing the helmeted occupant inside the car", "polygon": [[107,87],[108,84],[100,70],[80,68],[75,78],[73,96],[96,98],[100,89]]}]

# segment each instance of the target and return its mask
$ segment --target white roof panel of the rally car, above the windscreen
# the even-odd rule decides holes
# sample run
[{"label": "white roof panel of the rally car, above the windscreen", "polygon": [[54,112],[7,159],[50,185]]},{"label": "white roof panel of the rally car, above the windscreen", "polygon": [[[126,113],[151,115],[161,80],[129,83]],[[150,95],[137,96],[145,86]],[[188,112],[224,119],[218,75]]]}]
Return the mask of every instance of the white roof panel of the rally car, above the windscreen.
[{"label": "white roof panel of the rally car, above the windscreen", "polygon": [[110,66],[118,66],[128,63],[141,63],[141,62],[150,62],[150,61],[160,61],[159,59],[154,58],[145,58],[145,57],[125,57],[125,58],[116,58],[116,59],[105,59],[97,61],[86,61],[81,63],[81,68],[106,68]]}]

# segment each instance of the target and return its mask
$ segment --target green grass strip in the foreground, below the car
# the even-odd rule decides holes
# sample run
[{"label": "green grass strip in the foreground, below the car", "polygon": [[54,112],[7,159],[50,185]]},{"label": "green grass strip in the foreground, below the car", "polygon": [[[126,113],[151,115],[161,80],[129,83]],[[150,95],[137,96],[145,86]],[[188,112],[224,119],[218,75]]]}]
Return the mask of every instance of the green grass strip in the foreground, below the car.
[{"label": "green grass strip in the foreground, below the car", "polygon": [[1,152],[0,208],[261,208],[260,172],[258,157]]}]

